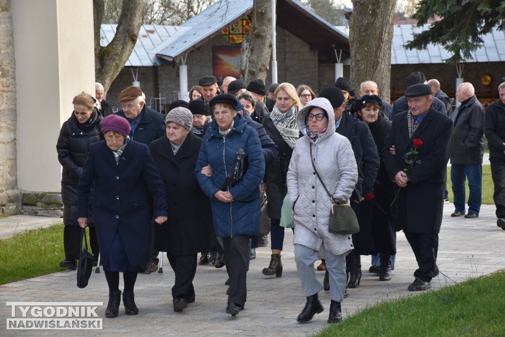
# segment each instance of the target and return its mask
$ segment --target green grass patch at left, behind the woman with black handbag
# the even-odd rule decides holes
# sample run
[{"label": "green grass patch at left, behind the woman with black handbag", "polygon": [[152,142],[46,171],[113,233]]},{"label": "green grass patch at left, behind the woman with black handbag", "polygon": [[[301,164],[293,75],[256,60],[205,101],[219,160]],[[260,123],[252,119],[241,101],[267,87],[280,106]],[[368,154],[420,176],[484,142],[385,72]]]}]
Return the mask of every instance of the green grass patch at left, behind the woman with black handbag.
[{"label": "green grass patch at left, behind the woman with black handbag", "polygon": [[56,224],[0,240],[0,284],[65,270],[63,228]]}]

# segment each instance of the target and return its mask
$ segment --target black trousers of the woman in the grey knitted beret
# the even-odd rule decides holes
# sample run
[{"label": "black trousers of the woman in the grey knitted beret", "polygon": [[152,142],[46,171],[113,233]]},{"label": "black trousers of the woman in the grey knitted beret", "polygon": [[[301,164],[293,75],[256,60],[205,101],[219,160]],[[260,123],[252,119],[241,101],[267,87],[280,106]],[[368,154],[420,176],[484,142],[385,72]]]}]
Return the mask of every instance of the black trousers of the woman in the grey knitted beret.
[{"label": "black trousers of the woman in the grey knitted beret", "polygon": [[168,262],[175,274],[172,298],[189,299],[194,296],[193,279],[196,274],[197,254],[172,255],[167,253]]}]

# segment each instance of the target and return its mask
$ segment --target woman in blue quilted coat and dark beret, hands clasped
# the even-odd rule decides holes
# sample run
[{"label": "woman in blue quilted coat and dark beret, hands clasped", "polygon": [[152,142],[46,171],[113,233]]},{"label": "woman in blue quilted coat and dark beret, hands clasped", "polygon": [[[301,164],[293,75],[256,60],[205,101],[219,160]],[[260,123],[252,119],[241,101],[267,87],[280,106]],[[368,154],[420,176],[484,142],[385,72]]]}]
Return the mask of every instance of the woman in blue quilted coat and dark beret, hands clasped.
[{"label": "woman in blue quilted coat and dark beret, hands clasped", "polygon": [[[223,237],[230,294],[226,312],[235,316],[246,299],[248,243],[260,233],[260,183],[265,174],[265,159],[260,138],[254,128],[236,112],[238,101],[231,94],[218,95],[210,102],[214,120],[205,134],[195,175],[201,189],[211,199],[214,231]],[[238,149],[244,150],[248,168],[232,187],[221,190]],[[201,173],[207,165],[212,176]]]}]

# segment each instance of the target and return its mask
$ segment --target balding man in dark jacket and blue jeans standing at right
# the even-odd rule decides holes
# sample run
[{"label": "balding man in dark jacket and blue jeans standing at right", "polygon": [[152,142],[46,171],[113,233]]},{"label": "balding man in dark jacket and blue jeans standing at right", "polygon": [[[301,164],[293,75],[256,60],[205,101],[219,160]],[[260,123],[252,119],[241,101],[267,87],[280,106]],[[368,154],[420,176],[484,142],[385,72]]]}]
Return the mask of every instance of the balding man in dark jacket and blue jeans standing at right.
[{"label": "balding man in dark jacket and blue jeans standing at right", "polygon": [[[482,203],[482,157],[484,155],[484,108],[471,83],[461,83],[456,91],[461,105],[452,114],[454,146],[450,156],[450,180],[456,210],[453,217],[478,218]],[[465,215],[465,180],[470,195]]]}]

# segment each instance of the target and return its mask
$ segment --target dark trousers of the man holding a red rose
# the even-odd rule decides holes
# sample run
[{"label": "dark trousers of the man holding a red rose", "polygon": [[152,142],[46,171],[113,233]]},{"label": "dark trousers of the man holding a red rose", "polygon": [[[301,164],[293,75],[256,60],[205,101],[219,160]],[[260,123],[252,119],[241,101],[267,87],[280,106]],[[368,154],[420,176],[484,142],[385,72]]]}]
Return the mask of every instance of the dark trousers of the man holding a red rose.
[{"label": "dark trousers of the man holding a red rose", "polygon": [[414,272],[414,277],[425,282],[431,281],[433,269],[437,262],[438,254],[438,233],[411,233],[406,232],[405,236],[416,256],[418,269]]}]

